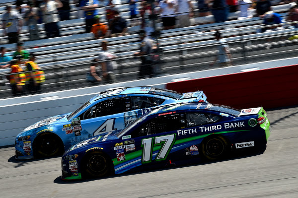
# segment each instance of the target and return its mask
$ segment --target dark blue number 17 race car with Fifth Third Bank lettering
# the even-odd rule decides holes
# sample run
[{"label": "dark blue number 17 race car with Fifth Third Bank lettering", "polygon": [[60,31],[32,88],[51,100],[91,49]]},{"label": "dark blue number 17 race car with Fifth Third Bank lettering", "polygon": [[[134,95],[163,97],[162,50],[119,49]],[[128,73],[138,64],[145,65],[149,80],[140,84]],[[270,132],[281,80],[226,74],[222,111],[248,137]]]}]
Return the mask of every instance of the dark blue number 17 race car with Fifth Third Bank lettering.
[{"label": "dark blue number 17 race car with Fifth Third Bank lettering", "polygon": [[62,179],[216,160],[232,151],[264,152],[270,122],[263,108],[236,110],[210,103],[157,107],[122,131],[104,133],[62,156]]}]

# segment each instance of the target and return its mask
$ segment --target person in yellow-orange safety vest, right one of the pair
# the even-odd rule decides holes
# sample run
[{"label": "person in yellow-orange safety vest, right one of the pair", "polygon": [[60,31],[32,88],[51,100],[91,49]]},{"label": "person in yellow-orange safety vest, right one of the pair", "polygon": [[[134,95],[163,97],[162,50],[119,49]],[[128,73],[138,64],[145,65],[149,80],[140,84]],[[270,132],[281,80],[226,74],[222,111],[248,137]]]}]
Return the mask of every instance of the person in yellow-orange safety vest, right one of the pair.
[{"label": "person in yellow-orange safety vest, right one of the pair", "polygon": [[36,55],[30,53],[29,61],[25,63],[25,71],[31,71],[26,73],[26,83],[27,89],[30,93],[40,93],[41,92],[41,82],[45,81],[45,74],[42,70],[34,71],[40,69],[35,63]]}]

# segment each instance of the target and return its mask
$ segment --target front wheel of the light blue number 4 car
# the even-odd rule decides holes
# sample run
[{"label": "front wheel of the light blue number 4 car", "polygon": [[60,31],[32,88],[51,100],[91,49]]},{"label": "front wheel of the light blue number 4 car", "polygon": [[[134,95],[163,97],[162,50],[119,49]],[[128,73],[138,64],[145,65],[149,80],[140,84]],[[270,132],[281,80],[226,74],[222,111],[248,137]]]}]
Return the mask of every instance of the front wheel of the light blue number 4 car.
[{"label": "front wheel of the light blue number 4 car", "polygon": [[64,144],[60,137],[52,132],[38,135],[33,142],[34,157],[52,157],[64,152]]}]

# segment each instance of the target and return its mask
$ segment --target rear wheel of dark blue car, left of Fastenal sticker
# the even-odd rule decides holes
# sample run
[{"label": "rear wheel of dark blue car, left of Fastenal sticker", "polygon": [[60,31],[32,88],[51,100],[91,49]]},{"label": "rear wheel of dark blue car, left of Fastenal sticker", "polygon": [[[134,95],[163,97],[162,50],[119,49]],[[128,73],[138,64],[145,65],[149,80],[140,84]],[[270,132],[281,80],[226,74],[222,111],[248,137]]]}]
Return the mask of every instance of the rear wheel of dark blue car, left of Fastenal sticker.
[{"label": "rear wheel of dark blue car, left of Fastenal sticker", "polygon": [[220,135],[211,135],[203,140],[201,151],[204,158],[208,160],[223,159],[228,151],[228,143]]}]

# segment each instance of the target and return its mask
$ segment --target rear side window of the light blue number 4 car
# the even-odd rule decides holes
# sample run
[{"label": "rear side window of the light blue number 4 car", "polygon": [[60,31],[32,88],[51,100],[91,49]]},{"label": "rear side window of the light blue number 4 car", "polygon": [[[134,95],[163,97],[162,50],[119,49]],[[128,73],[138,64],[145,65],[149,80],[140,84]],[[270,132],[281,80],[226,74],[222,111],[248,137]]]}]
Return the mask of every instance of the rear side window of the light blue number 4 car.
[{"label": "rear side window of the light blue number 4 car", "polygon": [[164,102],[162,98],[155,98],[149,96],[132,96],[131,97],[131,104],[132,109],[144,109],[149,107],[154,107],[157,105],[161,105]]}]

